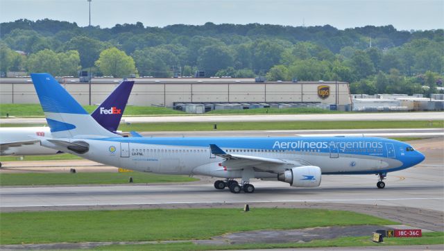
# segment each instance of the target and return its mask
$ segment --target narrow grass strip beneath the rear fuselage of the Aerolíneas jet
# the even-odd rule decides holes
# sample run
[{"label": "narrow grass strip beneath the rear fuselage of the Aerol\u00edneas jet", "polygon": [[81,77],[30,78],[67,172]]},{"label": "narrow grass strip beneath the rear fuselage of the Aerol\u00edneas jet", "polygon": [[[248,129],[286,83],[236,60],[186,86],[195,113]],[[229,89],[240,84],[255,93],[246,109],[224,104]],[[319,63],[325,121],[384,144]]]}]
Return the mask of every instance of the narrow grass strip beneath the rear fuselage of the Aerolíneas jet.
[{"label": "narrow grass strip beneath the rear fuselage of the Aerol\u00edneas jet", "polygon": [[182,175],[154,173],[0,173],[0,186],[31,186],[55,184],[125,184],[129,178],[134,183],[191,182],[196,178]]}]

